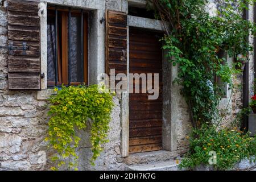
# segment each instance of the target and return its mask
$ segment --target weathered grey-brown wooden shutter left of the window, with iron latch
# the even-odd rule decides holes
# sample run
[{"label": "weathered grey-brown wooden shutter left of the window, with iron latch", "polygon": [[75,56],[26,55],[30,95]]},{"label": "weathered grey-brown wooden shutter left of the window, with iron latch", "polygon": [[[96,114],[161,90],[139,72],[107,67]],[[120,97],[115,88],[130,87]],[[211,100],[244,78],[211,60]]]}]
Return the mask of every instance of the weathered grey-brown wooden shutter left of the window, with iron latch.
[{"label": "weathered grey-brown wooden shutter left of the window, with iron latch", "polygon": [[38,3],[32,1],[9,0],[8,41],[21,49],[9,51],[9,89],[40,90],[40,18]]}]

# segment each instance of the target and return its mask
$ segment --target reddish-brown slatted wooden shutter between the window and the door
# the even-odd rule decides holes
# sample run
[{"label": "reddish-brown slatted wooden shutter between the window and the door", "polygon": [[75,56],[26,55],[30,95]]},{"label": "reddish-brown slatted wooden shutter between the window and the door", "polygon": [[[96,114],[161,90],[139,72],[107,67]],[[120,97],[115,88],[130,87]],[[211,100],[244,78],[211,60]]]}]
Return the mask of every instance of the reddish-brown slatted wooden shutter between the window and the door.
[{"label": "reddish-brown slatted wooden shutter between the window and the door", "polygon": [[106,73],[127,74],[127,14],[106,11]]}]

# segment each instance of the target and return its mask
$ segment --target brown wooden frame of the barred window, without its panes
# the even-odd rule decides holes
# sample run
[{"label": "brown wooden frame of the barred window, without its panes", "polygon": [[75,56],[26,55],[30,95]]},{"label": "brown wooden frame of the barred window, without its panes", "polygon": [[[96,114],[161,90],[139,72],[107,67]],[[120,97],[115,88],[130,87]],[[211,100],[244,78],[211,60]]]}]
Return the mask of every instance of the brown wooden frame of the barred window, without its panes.
[{"label": "brown wooden frame of the barred window, without its panes", "polygon": [[[48,10],[56,10],[56,7],[48,7]],[[69,86],[68,83],[68,13],[69,9],[57,8],[58,13],[60,13],[61,29],[59,24],[57,25],[57,85],[55,81],[47,81],[47,88],[53,88],[55,86]],[[88,12],[71,9],[71,16],[84,15],[83,18],[83,52],[84,52],[84,69],[83,74],[84,80],[81,82],[70,82],[70,85],[88,85]],[[48,15],[48,14],[47,14]],[[48,35],[47,35],[48,36]],[[54,56],[55,57],[55,56]],[[48,60],[47,60],[48,61]],[[63,66],[65,65],[65,66]],[[82,65],[82,64],[81,64]],[[80,65],[80,67],[81,67]]]}]

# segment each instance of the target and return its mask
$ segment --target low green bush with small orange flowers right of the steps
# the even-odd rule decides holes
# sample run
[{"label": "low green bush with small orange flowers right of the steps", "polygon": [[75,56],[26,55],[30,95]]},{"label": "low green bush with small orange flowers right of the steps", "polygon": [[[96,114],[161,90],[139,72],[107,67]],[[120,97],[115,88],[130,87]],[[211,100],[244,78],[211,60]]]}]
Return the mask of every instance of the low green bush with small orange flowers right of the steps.
[{"label": "low green bush with small orange flowers right of the steps", "polygon": [[192,131],[189,138],[190,150],[181,160],[180,168],[193,169],[201,164],[209,166],[209,153],[216,152],[217,163],[215,169],[232,169],[242,159],[256,155],[256,139],[243,134],[243,131],[222,129],[216,131],[214,127],[203,126]]}]

